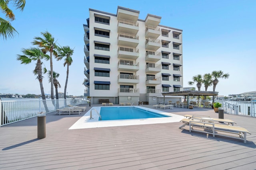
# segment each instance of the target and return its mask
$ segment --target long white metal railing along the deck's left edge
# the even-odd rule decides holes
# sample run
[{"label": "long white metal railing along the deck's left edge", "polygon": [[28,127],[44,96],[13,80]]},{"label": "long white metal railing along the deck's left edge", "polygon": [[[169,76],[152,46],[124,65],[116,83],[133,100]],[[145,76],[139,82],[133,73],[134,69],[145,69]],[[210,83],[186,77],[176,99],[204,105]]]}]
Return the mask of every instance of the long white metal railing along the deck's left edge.
[{"label": "long white metal railing along the deck's left edge", "polygon": [[0,100],[0,126],[36,117],[38,112],[50,113],[68,105],[82,104],[82,99],[20,99]]}]

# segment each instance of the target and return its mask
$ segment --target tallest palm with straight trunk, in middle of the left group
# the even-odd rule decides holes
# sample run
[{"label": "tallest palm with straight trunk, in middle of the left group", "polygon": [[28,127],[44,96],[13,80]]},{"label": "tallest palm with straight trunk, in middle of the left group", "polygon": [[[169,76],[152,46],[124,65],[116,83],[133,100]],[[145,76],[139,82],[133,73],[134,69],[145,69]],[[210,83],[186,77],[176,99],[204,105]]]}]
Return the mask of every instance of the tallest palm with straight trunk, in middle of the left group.
[{"label": "tallest palm with straight trunk, in middle of the left group", "polygon": [[54,92],[53,92],[53,66],[52,66],[52,54],[55,57],[58,57],[57,52],[55,51],[58,49],[58,46],[56,45],[56,41],[54,41],[54,37],[52,37],[52,34],[48,31],[41,32],[43,37],[34,37],[34,41],[32,42],[33,45],[38,45],[39,47],[42,47],[42,51],[46,54],[47,52],[50,52],[50,72],[51,72],[51,98],[54,100]]}]

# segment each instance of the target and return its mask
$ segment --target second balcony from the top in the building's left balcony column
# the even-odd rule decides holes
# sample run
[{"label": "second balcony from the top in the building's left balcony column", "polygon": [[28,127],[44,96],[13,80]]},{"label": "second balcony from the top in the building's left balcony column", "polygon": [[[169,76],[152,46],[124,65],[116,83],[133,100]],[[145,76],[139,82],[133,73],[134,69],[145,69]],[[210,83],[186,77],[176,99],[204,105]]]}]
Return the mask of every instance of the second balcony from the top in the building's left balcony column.
[{"label": "second balcony from the top in the building's left balcony column", "polygon": [[118,35],[118,45],[128,46],[128,47],[137,47],[139,44],[139,36],[128,34],[128,33],[119,33]]}]

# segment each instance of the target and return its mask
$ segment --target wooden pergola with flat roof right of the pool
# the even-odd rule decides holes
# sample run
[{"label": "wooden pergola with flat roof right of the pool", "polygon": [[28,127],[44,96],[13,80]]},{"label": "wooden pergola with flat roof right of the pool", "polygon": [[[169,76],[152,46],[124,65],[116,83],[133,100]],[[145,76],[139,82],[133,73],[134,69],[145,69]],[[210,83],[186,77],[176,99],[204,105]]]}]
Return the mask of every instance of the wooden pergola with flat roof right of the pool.
[{"label": "wooden pergola with flat roof right of the pool", "polygon": [[[162,95],[164,96],[164,103],[165,103],[165,96],[185,96],[185,98],[187,96],[187,101],[188,101],[189,96],[218,96],[218,93],[219,92],[183,90],[179,92],[164,92],[162,93]],[[188,101],[188,104],[189,104],[189,101]]]}]

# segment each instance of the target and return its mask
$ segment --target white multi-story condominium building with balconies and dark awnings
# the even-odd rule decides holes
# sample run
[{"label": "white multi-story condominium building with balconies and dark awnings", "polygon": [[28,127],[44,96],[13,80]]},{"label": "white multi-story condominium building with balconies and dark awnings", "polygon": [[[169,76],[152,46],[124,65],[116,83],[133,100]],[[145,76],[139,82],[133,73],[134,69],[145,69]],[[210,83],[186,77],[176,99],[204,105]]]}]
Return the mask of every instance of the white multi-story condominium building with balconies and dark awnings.
[{"label": "white multi-story condominium building with balconies and dark awnings", "polygon": [[159,25],[160,16],[138,19],[139,13],[120,6],[117,14],[89,9],[84,96],[92,104],[157,104],[162,92],[182,90],[182,30]]}]

